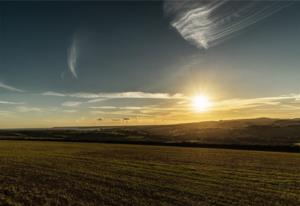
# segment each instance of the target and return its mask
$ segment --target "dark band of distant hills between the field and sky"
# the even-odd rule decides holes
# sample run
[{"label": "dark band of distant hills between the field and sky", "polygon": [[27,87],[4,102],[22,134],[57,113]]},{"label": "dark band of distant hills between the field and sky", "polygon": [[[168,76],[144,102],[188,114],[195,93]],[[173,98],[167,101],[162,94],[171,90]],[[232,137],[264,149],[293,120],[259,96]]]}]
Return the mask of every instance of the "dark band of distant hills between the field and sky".
[{"label": "dark band of distant hills between the field and sky", "polygon": [[0,130],[2,139],[299,145],[300,119],[241,119],[155,126]]}]

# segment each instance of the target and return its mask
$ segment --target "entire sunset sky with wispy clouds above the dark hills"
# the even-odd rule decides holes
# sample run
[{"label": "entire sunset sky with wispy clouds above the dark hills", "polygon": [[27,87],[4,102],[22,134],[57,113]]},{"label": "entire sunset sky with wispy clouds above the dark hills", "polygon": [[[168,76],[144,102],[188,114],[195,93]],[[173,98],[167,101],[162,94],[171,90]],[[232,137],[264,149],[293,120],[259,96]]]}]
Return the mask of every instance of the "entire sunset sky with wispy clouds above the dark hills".
[{"label": "entire sunset sky with wispy clouds above the dark hills", "polygon": [[0,128],[298,118],[299,10],[299,1],[1,1]]}]

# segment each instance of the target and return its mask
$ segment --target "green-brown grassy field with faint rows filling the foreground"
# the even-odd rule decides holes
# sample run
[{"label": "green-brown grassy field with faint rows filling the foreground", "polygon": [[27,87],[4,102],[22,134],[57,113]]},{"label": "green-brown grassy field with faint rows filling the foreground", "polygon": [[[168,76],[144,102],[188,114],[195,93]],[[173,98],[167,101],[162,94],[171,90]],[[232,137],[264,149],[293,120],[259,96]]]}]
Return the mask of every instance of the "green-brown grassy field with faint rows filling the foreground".
[{"label": "green-brown grassy field with faint rows filling the foreground", "polygon": [[0,205],[300,205],[300,154],[0,141]]}]

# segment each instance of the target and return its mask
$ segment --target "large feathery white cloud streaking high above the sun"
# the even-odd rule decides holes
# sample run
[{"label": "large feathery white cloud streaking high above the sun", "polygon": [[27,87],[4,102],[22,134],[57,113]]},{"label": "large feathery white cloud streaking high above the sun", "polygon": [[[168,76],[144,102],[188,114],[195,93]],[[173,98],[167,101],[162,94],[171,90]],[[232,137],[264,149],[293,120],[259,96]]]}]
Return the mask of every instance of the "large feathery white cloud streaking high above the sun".
[{"label": "large feathery white cloud streaking high above the sun", "polygon": [[290,5],[287,1],[166,0],[164,12],[179,34],[209,48]]}]

